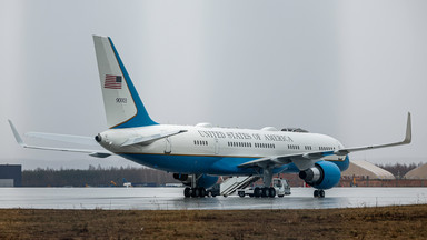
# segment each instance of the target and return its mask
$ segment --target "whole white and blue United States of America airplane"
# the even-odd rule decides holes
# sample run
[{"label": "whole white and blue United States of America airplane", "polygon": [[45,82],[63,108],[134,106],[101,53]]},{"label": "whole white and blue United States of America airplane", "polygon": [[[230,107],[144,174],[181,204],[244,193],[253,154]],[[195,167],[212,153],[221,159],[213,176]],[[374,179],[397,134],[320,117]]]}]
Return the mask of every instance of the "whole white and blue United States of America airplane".
[{"label": "whole white and blue United States of America airplane", "polygon": [[255,197],[276,196],[271,179],[277,173],[298,173],[325,198],[325,190],[338,184],[349,167],[348,154],[411,142],[410,112],[405,139],[399,142],[346,148],[337,139],[302,129],[260,130],[196,126],[160,124],[147,112],[110,37],[93,36],[108,130],[95,138],[42,132],[27,136],[48,140],[101,146],[105,150],[28,146],[12,121],[17,142],[29,149],[81,152],[97,158],[120,156],[136,163],[172,172],[188,186],[186,198],[205,197],[220,176],[259,176],[264,187]]}]

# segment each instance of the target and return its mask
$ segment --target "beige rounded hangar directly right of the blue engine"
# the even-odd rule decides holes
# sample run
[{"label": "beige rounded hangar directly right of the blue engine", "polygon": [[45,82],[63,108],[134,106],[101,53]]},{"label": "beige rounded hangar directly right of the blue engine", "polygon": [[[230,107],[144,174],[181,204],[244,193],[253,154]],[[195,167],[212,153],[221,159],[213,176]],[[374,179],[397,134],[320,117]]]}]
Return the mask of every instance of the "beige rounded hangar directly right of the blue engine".
[{"label": "beige rounded hangar directly right of the blue engine", "polygon": [[364,160],[351,160],[342,177],[361,177],[368,179],[396,179],[391,172]]}]

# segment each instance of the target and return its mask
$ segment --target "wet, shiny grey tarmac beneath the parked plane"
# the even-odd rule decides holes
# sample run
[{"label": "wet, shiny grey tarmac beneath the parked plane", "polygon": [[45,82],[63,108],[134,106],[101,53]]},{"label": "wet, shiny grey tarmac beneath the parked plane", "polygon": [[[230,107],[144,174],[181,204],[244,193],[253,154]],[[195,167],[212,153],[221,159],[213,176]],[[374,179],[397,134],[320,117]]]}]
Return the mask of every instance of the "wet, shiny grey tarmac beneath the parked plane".
[{"label": "wet, shiny grey tarmac beneath the parked plane", "polygon": [[0,188],[0,208],[30,209],[328,209],[427,203],[427,188],[334,188],[326,198],[292,188],[285,198],[183,198],[182,188]]}]

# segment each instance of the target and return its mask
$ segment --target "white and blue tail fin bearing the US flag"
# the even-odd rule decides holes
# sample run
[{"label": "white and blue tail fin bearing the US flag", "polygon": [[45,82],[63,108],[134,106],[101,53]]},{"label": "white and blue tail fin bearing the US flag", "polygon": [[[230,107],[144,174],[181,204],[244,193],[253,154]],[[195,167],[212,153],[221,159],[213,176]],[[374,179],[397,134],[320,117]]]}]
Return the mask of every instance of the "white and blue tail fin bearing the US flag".
[{"label": "white and blue tail fin bearing the US flag", "polygon": [[109,37],[93,36],[109,128],[157,124],[148,114]]}]

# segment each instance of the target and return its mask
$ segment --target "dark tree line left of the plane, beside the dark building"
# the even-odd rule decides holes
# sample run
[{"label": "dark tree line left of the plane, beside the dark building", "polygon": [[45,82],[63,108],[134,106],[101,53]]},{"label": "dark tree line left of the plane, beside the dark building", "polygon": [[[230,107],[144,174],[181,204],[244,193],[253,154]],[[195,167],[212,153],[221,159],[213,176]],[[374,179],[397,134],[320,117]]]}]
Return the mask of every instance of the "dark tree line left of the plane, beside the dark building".
[{"label": "dark tree line left of the plane, beside the dark building", "polygon": [[37,168],[22,171],[22,187],[108,187],[123,186],[125,182],[132,182],[133,186],[179,183],[172,173],[149,168],[89,166],[87,170]]}]

